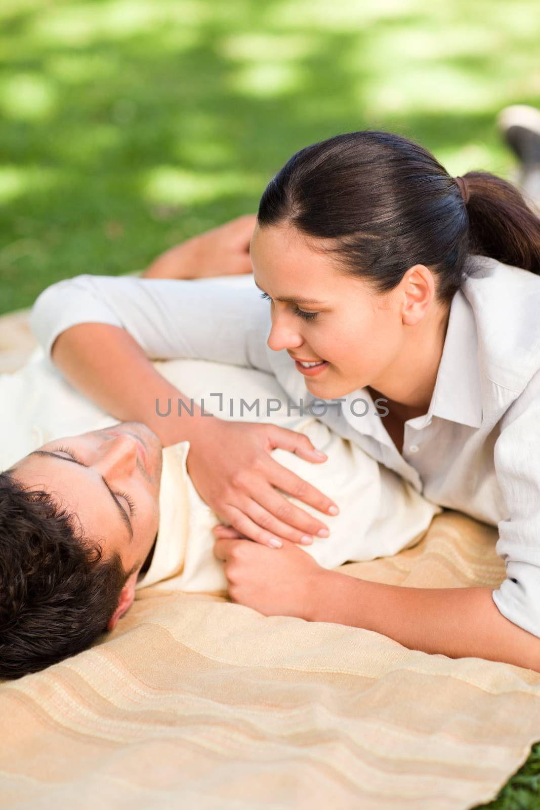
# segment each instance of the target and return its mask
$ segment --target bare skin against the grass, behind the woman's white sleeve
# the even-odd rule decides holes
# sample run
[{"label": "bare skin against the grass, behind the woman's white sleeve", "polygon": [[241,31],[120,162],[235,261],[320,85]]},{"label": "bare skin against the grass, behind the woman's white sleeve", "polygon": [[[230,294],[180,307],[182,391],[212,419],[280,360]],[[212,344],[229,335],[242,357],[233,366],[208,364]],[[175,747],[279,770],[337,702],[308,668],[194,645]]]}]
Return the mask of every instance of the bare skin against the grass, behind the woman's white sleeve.
[{"label": "bare skin against the grass, behind the woman's white sleeve", "polygon": [[237,216],[218,228],[165,251],[142,273],[143,279],[202,279],[251,273],[249,243],[255,214]]}]

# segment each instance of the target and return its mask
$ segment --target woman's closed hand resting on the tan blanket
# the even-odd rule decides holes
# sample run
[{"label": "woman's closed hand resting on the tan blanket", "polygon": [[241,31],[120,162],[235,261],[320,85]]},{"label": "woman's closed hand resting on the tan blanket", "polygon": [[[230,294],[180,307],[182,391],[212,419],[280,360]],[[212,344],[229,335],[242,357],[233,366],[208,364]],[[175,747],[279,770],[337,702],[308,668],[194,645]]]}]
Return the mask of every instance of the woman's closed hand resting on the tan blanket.
[{"label": "woman's closed hand resting on the tan blanket", "polygon": [[214,527],[214,555],[223,561],[233,602],[264,616],[310,620],[321,578],[328,573],[311,554],[288,540],[267,548],[236,529]]}]

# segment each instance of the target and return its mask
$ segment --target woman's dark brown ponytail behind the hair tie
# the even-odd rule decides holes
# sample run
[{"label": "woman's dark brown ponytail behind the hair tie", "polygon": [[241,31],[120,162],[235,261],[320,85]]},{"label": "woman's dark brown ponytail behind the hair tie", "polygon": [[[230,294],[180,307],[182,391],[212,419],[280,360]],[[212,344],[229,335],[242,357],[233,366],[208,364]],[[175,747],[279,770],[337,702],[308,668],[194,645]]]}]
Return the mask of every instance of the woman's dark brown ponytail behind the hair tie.
[{"label": "woman's dark brown ponytail behind the hair tie", "polygon": [[517,188],[488,172],[467,172],[469,249],[540,275],[540,218]]}]

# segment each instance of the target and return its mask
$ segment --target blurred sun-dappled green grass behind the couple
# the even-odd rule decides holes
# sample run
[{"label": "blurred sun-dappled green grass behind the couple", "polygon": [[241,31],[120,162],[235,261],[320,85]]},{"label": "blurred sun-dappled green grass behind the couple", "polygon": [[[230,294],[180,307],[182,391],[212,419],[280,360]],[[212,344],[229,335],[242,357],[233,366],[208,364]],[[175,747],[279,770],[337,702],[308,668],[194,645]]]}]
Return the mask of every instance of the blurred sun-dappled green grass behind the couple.
[{"label": "blurred sun-dappled green grass behind the couple", "polygon": [[257,211],[300,147],[397,131],[504,177],[537,0],[2,0],[0,313]]}]

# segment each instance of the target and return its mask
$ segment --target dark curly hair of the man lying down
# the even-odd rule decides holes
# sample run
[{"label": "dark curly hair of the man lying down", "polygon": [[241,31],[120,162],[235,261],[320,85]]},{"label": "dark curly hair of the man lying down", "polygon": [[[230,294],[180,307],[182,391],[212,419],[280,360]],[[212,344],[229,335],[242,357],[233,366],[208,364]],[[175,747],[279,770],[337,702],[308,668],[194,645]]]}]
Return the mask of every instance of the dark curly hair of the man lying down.
[{"label": "dark curly hair of the man lying down", "polygon": [[104,632],[126,572],[104,560],[77,516],[49,492],[0,473],[0,678],[19,678],[79,653]]}]

